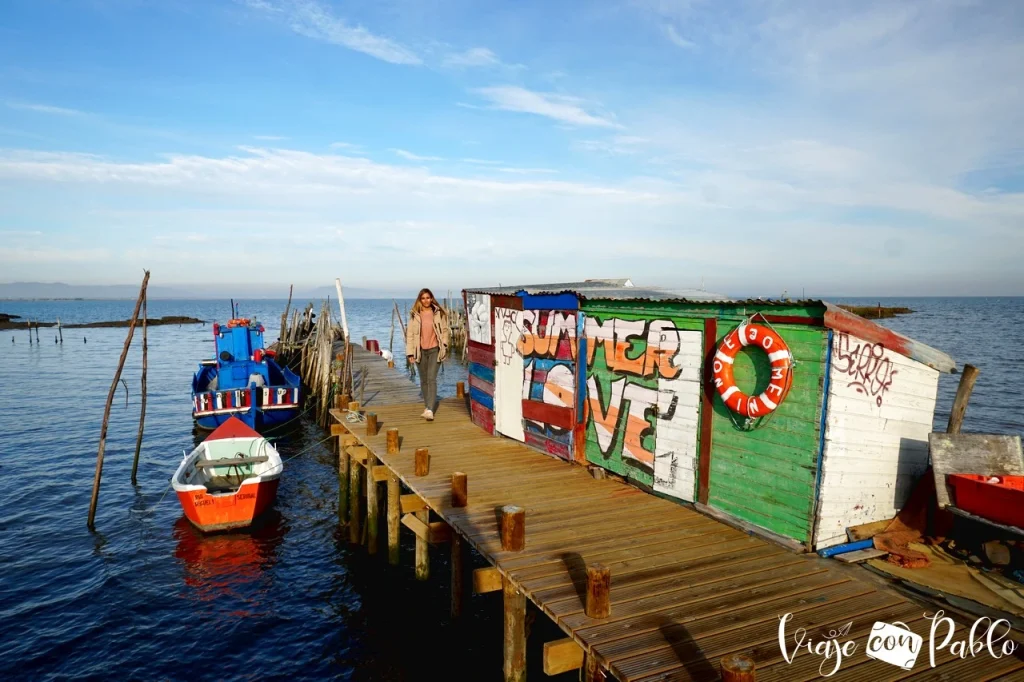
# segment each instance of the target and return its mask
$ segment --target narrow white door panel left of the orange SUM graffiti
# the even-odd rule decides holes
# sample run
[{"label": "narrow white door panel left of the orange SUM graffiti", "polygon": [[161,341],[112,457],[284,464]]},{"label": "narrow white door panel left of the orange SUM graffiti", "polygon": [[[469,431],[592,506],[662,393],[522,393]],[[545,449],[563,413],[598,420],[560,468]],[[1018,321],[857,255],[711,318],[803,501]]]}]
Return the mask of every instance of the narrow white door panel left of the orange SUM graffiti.
[{"label": "narrow white door panel left of the orange SUM graffiti", "polygon": [[495,308],[495,431],[522,442],[522,310]]}]

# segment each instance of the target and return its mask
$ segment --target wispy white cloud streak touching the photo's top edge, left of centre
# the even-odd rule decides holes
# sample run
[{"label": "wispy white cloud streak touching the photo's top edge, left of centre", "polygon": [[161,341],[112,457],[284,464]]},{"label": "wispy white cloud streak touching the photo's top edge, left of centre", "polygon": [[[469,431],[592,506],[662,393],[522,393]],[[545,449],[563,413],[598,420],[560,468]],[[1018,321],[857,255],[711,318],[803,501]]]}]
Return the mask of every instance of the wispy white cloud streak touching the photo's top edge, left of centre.
[{"label": "wispy white cloud streak touching the photo's top edge, left of centre", "polygon": [[307,38],[347,47],[390,63],[423,63],[412,49],[371,33],[361,26],[349,24],[313,0],[244,0],[243,4],[262,12],[283,15],[292,31]]}]

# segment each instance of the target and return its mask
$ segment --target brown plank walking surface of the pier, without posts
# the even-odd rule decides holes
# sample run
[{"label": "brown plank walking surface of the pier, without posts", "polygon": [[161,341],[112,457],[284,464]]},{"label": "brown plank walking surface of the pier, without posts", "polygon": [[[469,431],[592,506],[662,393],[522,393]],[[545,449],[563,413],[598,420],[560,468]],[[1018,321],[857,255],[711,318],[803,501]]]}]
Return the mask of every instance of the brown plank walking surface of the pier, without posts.
[{"label": "brown plank walking surface of the pier, without posts", "polygon": [[[359,361],[375,363],[359,355]],[[991,657],[987,651],[961,659],[946,647],[929,666],[935,607],[914,603],[870,579],[862,569],[799,555],[688,507],[655,498],[613,479],[547,457],[518,442],[494,437],[470,422],[466,403],[441,401],[433,422],[420,418],[422,403],[409,400],[402,373],[374,367],[366,403],[379,432],[332,415],[453,532],[470,543],[602,669],[623,682],[717,680],[719,660],[743,653],[757,664],[758,682],[825,679],[824,662],[802,650],[787,664],[778,645],[779,617],[793,613],[788,642],[798,628],[817,642],[829,630],[853,624],[840,642],[857,649],[844,656],[828,679],[895,680],[1024,679],[1024,659]],[[389,386],[400,390],[390,392]],[[372,399],[369,396],[373,396]],[[417,396],[419,395],[417,388]],[[388,455],[386,430],[396,427],[400,451]],[[414,451],[430,453],[428,475],[416,476]],[[353,460],[354,461],[354,460]],[[373,462],[373,458],[370,459]],[[452,473],[467,474],[468,505],[452,505]],[[503,551],[499,512],[504,505],[526,510],[526,546]],[[421,517],[422,518],[422,517]],[[611,614],[584,612],[586,566],[611,570]],[[912,670],[868,658],[867,636],[877,621],[904,623],[924,637]],[[955,639],[968,638],[961,624]],[[820,668],[819,668],[820,667]]]}]

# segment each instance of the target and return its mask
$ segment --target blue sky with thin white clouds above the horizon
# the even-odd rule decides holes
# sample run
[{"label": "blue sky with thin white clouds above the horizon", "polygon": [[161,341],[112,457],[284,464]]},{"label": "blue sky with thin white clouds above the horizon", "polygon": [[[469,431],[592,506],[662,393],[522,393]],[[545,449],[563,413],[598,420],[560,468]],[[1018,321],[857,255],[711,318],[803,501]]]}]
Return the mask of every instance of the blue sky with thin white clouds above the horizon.
[{"label": "blue sky with thin white clouds above the horizon", "polygon": [[6,0],[0,281],[1024,294],[1015,2]]}]

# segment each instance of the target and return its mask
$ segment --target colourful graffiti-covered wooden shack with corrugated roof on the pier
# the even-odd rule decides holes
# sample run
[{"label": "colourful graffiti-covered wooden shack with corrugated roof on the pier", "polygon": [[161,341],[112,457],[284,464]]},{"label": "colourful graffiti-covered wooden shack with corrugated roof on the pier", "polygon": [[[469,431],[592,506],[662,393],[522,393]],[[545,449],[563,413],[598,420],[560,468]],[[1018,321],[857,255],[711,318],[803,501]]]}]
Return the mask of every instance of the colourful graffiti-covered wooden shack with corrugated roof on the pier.
[{"label": "colourful graffiti-covered wooden shack with corrugated roof on the pier", "polygon": [[[823,301],[730,300],[629,281],[467,289],[469,397],[487,431],[792,547],[892,518],[928,466],[946,354]],[[793,381],[773,412],[738,415],[712,383],[740,324],[777,333]],[[769,385],[753,345],[736,385]]]}]

